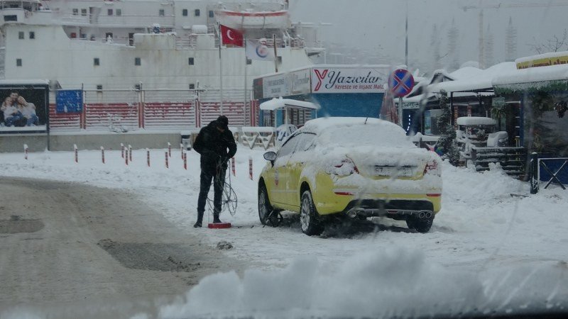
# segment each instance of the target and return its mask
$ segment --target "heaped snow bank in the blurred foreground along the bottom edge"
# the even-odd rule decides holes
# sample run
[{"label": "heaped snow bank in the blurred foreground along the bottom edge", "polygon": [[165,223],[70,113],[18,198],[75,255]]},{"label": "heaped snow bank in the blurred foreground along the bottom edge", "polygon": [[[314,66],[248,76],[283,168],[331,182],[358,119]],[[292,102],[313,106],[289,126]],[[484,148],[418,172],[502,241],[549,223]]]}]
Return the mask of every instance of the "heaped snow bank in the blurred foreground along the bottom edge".
[{"label": "heaped snow bank in the blurred foreground along the bottom edge", "polygon": [[[568,283],[565,271],[566,264],[548,264],[477,276],[440,267],[417,250],[389,247],[356,254],[339,265],[306,257],[276,272],[214,274],[185,298],[162,307],[159,318],[415,318],[550,311],[567,305],[563,298],[568,294],[559,293]],[[525,284],[551,285],[552,293],[539,296],[524,291]],[[527,296],[534,303],[522,301]]]}]

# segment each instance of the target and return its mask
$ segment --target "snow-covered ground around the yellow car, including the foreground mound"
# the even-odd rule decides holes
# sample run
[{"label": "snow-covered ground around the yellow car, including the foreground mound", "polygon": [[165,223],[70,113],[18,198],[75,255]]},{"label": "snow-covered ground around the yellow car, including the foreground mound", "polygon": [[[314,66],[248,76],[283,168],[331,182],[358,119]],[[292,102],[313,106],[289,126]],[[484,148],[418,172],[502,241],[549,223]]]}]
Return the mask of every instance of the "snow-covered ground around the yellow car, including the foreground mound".
[{"label": "snow-covered ground around the yellow car, including the foreground mound", "polygon": [[[134,150],[126,166],[120,151],[1,154],[0,176],[77,181],[140,194],[149,206],[198,233],[212,246],[234,245],[226,254],[250,262],[243,277],[216,274],[162,308],[166,318],[257,315],[430,315],[459,311],[503,313],[566,310],[568,300],[568,191],[529,194],[528,184],[500,169],[484,174],[443,165],[442,211],[430,233],[409,233],[404,223],[308,237],[291,218],[280,228],[262,227],[256,179],[263,150],[239,145],[232,185],[239,199],[233,228],[192,228],[197,216],[199,157],[173,150]],[[249,179],[249,158],[253,177]],[[204,222],[212,220],[206,216]],[[214,304],[213,304],[214,303]],[[219,306],[222,305],[222,306]],[[145,314],[138,316],[146,318]]]}]

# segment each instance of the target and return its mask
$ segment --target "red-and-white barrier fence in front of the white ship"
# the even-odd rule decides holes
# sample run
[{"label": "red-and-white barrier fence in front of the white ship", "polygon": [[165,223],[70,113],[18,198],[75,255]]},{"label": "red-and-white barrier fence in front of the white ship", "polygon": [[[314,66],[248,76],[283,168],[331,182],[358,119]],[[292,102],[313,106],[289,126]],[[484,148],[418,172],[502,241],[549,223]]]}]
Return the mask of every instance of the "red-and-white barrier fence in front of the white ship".
[{"label": "red-and-white barrier fence in front of the white ship", "polygon": [[224,101],[222,107],[219,99],[218,90],[84,91],[82,112],[57,113],[52,103],[49,124],[53,130],[117,132],[138,128],[200,128],[217,119],[223,110],[230,126],[256,125],[258,102],[245,99],[242,90],[227,90],[225,99],[229,101]]}]

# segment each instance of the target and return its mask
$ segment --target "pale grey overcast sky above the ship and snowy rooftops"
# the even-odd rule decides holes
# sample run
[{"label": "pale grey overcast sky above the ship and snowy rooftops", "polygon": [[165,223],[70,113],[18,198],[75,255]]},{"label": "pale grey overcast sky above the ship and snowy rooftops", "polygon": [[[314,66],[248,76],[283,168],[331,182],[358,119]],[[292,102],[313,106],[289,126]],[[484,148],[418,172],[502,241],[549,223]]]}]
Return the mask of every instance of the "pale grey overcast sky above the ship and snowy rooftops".
[{"label": "pale grey overcast sky above the ship and snowy rooftops", "polygon": [[[321,38],[361,49],[377,49],[392,63],[404,61],[403,0],[290,0],[293,21],[328,22]],[[499,6],[500,8],[496,8]],[[465,9],[464,7],[470,8]],[[471,8],[476,7],[476,8]],[[517,28],[517,56],[535,54],[530,44],[544,43],[568,28],[567,0],[408,0],[409,64],[433,60],[434,24],[440,55],[447,49],[452,19],[459,28],[459,62],[479,60],[479,12],[484,7],[484,33],[493,34],[493,62],[505,60],[505,35],[509,17]],[[565,48],[568,50],[568,47]]]}]

